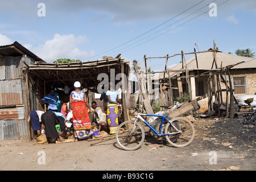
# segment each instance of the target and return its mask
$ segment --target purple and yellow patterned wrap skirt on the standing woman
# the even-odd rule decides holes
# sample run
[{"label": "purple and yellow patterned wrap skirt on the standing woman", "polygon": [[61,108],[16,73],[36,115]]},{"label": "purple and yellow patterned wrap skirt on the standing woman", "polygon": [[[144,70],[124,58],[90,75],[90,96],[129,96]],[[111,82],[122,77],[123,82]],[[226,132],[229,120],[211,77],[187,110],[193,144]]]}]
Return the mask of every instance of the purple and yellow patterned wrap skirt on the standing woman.
[{"label": "purple and yellow patterned wrap skirt on the standing woman", "polygon": [[115,134],[118,127],[118,106],[116,104],[107,104],[107,123],[110,134]]}]

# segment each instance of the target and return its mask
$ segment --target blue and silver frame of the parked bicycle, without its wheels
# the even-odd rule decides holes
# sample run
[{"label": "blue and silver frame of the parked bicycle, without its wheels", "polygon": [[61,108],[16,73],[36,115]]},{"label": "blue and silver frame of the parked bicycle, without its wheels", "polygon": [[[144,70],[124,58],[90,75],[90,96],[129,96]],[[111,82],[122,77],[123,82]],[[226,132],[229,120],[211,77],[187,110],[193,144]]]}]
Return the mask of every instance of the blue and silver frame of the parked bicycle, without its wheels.
[{"label": "blue and silver frame of the parked bicycle, without its wheels", "polygon": [[[141,115],[153,116],[153,117],[161,117],[161,118],[162,118],[162,122],[161,122],[161,127],[160,127],[160,130],[159,130],[160,133],[158,133],[158,131],[156,131],[152,126],[150,126],[149,123],[146,122],[145,119],[143,119],[143,118],[141,117]],[[154,133],[157,134],[158,136],[165,136],[165,135],[171,135],[171,134],[179,134],[179,133],[181,133],[181,131],[179,131],[179,130],[173,125],[173,123],[170,122],[170,120],[165,117],[165,115],[141,114],[141,113],[138,113],[137,118],[136,118],[136,120],[134,121],[134,123],[136,123],[138,119],[141,119],[141,121],[143,121],[143,122],[144,122],[151,130],[153,130]],[[171,126],[173,126],[174,129],[175,129],[176,131],[178,131],[178,132],[175,132],[175,133],[168,133],[168,134],[161,134],[162,126],[163,126],[163,121],[164,121],[165,119],[166,119],[166,121],[169,122],[169,123],[171,124]],[[135,127],[135,125],[134,125],[134,127]],[[133,129],[133,131],[134,131],[134,130],[135,130],[135,128]],[[133,131],[131,131],[131,133],[133,133]]]}]

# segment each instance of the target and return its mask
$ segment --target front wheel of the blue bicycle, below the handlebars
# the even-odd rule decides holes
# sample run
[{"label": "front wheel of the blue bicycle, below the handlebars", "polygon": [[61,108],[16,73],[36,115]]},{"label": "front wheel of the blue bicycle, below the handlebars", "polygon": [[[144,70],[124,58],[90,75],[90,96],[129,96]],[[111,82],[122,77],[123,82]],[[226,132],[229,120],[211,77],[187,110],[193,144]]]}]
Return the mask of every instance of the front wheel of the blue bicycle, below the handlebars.
[{"label": "front wheel of the blue bicycle, below the handlebars", "polygon": [[137,122],[125,121],[118,126],[115,139],[123,150],[136,150],[144,142],[145,130]]}]

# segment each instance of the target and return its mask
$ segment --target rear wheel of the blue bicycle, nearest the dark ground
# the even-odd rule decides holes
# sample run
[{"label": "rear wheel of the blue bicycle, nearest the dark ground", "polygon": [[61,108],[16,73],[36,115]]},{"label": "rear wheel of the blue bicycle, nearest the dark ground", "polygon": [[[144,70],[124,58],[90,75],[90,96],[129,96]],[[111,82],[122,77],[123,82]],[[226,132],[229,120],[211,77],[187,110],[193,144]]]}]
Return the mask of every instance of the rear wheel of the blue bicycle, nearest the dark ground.
[{"label": "rear wheel of the blue bicycle, nearest the dark ground", "polygon": [[[193,124],[186,118],[173,118],[165,127],[165,138],[174,147],[186,147],[195,137],[195,129]],[[180,133],[179,133],[180,132]],[[175,138],[175,140],[173,140]]]}]

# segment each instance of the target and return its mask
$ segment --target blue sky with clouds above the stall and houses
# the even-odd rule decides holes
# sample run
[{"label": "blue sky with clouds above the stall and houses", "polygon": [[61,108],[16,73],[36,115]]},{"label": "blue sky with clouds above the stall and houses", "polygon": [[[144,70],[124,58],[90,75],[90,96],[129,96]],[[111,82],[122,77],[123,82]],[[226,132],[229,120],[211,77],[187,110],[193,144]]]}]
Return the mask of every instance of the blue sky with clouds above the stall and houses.
[{"label": "blue sky with clouds above the stall and houses", "polygon": [[[225,2],[214,17],[209,15],[211,2]],[[38,3],[45,4],[45,16],[38,16]],[[204,51],[213,48],[213,40],[222,52],[246,48],[256,52],[255,23],[254,0],[0,0],[0,46],[17,41],[48,63],[121,53],[142,67],[144,55]],[[179,61],[180,56],[169,59],[168,67]],[[153,71],[165,69],[164,59],[148,64]]]}]

